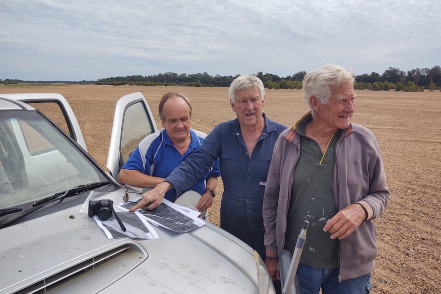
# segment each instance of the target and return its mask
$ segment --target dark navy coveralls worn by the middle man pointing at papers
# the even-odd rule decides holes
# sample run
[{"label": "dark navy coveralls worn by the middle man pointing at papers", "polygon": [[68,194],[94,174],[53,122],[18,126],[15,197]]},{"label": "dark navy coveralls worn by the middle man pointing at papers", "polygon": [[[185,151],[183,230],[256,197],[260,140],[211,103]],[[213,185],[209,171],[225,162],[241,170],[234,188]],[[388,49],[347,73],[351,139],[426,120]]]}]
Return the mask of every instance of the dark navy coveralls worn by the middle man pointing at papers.
[{"label": "dark navy coveralls worn by the middle man pointing at papers", "polygon": [[262,205],[274,144],[286,126],[265,114],[265,127],[251,157],[237,119],[218,124],[200,149],[182,162],[167,178],[179,191],[186,189],[201,170],[220,162],[224,193],[220,205],[220,227],[253,247],[264,259]]}]

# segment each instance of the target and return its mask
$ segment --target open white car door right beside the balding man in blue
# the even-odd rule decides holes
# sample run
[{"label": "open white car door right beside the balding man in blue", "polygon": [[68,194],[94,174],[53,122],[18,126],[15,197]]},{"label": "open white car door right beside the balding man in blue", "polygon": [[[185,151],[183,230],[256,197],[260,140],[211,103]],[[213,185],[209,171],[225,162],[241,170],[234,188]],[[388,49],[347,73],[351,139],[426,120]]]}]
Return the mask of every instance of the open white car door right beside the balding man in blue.
[{"label": "open white car door right beside the balding man in blue", "polygon": [[142,139],[157,130],[150,107],[140,92],[128,94],[118,100],[106,165],[115,180],[130,153]]}]

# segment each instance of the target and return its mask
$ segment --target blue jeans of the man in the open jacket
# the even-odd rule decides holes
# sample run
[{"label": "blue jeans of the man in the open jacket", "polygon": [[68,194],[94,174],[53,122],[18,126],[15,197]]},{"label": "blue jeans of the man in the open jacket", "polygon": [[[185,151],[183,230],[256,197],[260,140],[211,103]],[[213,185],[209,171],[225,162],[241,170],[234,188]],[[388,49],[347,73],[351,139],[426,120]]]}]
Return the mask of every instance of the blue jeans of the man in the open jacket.
[{"label": "blue jeans of the man in the open jacket", "polygon": [[313,268],[302,263],[296,277],[301,294],[368,294],[372,288],[370,273],[355,279],[338,281],[338,268]]}]

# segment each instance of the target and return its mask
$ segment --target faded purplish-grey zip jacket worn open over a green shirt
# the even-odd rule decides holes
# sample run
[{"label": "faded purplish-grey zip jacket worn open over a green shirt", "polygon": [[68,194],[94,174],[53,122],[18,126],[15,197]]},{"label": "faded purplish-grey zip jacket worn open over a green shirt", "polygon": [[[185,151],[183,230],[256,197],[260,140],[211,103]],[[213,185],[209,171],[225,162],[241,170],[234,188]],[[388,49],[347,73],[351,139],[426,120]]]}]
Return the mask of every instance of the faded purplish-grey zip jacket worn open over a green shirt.
[{"label": "faded purplish-grey zip jacket worn open over a green shirt", "polygon": [[[262,209],[268,257],[277,257],[284,249],[286,216],[300,156],[300,134],[295,129],[299,122],[311,118],[308,112],[293,128],[284,130],[274,146]],[[390,192],[378,142],[367,128],[350,124],[343,130],[335,156],[333,197],[336,208],[340,211],[357,202],[367,211],[366,220],[339,241],[339,277],[348,280],[366,275],[374,268],[378,246],[372,219],[384,212]]]}]

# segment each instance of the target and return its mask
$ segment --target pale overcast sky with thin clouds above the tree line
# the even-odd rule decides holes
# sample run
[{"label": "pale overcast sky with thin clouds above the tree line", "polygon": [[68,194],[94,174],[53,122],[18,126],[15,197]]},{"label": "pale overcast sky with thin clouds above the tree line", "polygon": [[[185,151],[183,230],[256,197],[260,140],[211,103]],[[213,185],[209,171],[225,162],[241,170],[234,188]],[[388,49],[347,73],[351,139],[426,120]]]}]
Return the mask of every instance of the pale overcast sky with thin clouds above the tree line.
[{"label": "pale overcast sky with thin clouds above the tree line", "polygon": [[441,65],[440,0],[14,0],[0,79],[258,72],[323,64],[383,74]]}]

